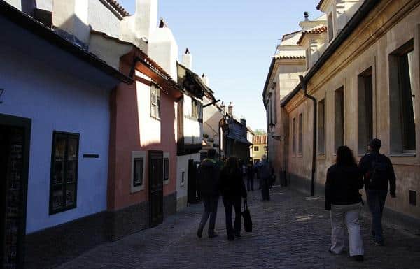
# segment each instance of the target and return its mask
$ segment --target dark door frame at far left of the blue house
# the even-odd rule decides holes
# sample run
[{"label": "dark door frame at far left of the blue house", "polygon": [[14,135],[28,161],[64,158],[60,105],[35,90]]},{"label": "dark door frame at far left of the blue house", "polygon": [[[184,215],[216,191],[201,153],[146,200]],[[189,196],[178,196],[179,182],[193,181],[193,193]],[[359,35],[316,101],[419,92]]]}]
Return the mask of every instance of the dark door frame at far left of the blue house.
[{"label": "dark door frame at far left of the blue house", "polygon": [[20,190],[20,201],[22,203],[22,217],[19,221],[18,229],[18,268],[24,268],[25,263],[25,235],[27,220],[27,193],[28,193],[28,175],[29,175],[29,148],[31,146],[31,119],[25,117],[16,117],[0,113],[0,125],[19,127],[24,130],[23,140],[23,167],[22,167],[22,189]]}]

